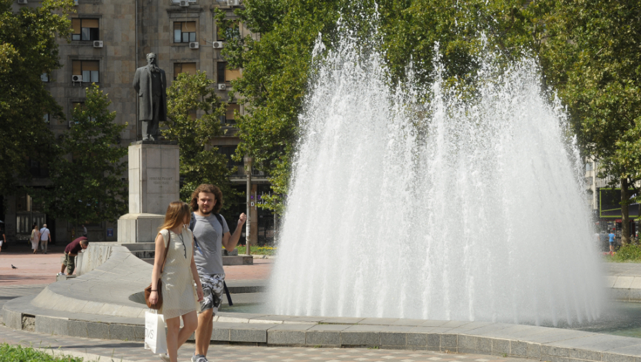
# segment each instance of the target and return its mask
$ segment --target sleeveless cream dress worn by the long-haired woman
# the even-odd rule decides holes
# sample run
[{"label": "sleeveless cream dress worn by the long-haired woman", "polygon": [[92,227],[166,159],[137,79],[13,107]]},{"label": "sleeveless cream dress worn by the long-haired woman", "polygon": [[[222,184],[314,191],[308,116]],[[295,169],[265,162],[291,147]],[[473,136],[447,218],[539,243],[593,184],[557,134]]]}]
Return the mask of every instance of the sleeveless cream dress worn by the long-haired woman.
[{"label": "sleeveless cream dress worn by the long-haired woman", "polygon": [[190,268],[194,254],[194,238],[192,231],[187,228],[183,228],[181,234],[166,229],[161,230],[160,234],[165,239],[165,248],[169,248],[169,251],[161,276],[163,307],[158,314],[163,314],[167,320],[198,308],[198,297]]}]

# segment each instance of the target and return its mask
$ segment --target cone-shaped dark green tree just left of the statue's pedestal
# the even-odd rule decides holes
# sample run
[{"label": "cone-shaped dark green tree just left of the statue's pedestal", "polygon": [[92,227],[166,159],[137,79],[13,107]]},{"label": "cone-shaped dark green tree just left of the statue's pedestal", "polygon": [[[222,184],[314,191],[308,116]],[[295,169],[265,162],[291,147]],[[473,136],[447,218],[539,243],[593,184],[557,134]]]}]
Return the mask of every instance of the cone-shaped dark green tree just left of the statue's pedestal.
[{"label": "cone-shaped dark green tree just left of the statue's pedestal", "polygon": [[57,144],[50,190],[32,190],[45,211],[72,225],[116,221],[127,212],[128,192],[122,181],[127,148],[120,134],[126,125],[114,123],[111,101],[92,84],[85,103],[73,110],[72,127]]}]

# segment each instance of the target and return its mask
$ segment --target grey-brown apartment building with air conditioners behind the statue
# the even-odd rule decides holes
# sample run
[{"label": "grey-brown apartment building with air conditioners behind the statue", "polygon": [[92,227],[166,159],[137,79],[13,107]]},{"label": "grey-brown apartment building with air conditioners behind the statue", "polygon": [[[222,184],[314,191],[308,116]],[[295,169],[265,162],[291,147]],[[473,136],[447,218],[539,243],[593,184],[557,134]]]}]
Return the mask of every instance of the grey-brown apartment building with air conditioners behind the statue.
[{"label": "grey-brown apartment building with air conditioners behind the statue", "polygon": [[[14,11],[19,11],[23,6],[37,7],[40,3],[37,0],[16,0],[13,7]],[[76,13],[71,15],[70,40],[59,40],[62,67],[52,74],[42,74],[42,81],[47,83],[68,119],[71,119],[74,107],[82,105],[85,88],[90,83],[99,85],[112,101],[110,110],[116,111],[115,122],[127,125],[121,134],[121,145],[127,146],[141,139],[132,80],[136,68],[146,65],[147,53],[157,54],[159,67],[167,74],[167,87],[181,72],[193,74],[201,70],[216,81],[216,92],[223,101],[234,99],[230,94],[230,81],[242,77],[242,70],[227,69],[227,63],[221,56],[225,36],[250,35],[257,39],[259,35],[235,22],[234,28],[226,29],[221,37],[213,16],[218,8],[225,11],[230,19],[235,19],[233,11],[239,6],[242,6],[239,0],[75,0]],[[221,117],[227,132],[223,137],[212,139],[212,145],[228,157],[234,154],[239,142],[234,128],[235,111],[245,112],[243,105],[232,101],[227,105],[225,116]],[[50,119],[45,115],[45,121],[57,136],[68,130],[68,119]],[[231,158],[229,165],[239,166],[232,182],[244,194],[246,177],[243,165],[236,164]],[[31,168],[33,184],[46,188],[48,170],[38,164],[32,164]],[[127,177],[123,174],[123,181]],[[258,201],[261,192],[265,192],[267,179],[261,172],[254,172],[252,183],[252,199]],[[71,225],[44,214],[28,194],[5,197],[3,204],[6,210],[3,220],[9,240],[28,239],[30,225],[34,222],[39,225],[47,223],[54,241],[63,243],[70,240]],[[231,213],[234,217],[227,217],[230,227],[236,225],[234,218],[245,212],[246,206],[244,201],[233,205]],[[254,239],[254,245],[261,238],[263,243],[269,242],[269,237],[273,238],[272,214],[257,210],[254,205],[252,219],[258,220],[254,222],[255,230],[252,230],[252,235],[258,237]],[[261,219],[265,220],[262,224]],[[116,240],[116,223],[105,221],[86,226],[93,241]]]}]

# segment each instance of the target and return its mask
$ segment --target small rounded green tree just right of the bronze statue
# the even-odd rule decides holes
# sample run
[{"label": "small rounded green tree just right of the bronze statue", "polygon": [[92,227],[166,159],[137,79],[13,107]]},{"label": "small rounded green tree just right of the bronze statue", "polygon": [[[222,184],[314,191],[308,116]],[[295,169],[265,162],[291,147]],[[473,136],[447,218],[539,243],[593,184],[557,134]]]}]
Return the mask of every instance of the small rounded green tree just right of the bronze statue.
[{"label": "small rounded green tree just right of the bronze statue", "polygon": [[[226,198],[236,196],[229,177],[227,157],[212,147],[212,138],[221,136],[220,117],[225,103],[214,92],[214,81],[205,72],[181,73],[167,90],[167,129],[163,136],[180,145],[180,174],[184,177],[181,199],[189,202],[201,183],[217,185]],[[198,112],[203,113],[200,118]],[[229,204],[224,204],[223,208]]]}]

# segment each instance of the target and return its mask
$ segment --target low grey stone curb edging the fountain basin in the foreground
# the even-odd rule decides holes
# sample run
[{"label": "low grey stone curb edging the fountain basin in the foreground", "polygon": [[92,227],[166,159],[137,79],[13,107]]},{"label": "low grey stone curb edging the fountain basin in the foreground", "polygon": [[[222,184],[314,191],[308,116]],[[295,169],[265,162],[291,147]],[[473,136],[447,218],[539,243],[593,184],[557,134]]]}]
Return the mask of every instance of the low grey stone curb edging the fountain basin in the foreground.
[{"label": "low grey stone curb edging the fountain basin in the foreground", "polygon": [[[29,298],[13,299],[3,306],[8,327],[95,339],[144,339],[143,319],[132,318],[126,323],[123,319],[107,321],[105,316],[87,320],[78,315],[67,318],[21,312]],[[641,362],[641,339],[491,322],[221,313],[214,318],[212,341],[447,351],[549,362]]]}]

